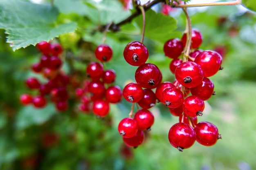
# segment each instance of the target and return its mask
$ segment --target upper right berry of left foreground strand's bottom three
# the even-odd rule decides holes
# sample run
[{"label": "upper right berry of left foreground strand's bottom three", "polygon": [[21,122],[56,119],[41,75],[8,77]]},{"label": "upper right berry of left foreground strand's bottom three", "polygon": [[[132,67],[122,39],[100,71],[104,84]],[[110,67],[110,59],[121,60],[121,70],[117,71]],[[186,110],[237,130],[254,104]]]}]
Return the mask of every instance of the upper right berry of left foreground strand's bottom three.
[{"label": "upper right berry of left foreground strand's bottom three", "polygon": [[136,120],[138,129],[141,131],[150,130],[155,121],[153,114],[147,109],[138,110],[134,115],[134,120]]}]

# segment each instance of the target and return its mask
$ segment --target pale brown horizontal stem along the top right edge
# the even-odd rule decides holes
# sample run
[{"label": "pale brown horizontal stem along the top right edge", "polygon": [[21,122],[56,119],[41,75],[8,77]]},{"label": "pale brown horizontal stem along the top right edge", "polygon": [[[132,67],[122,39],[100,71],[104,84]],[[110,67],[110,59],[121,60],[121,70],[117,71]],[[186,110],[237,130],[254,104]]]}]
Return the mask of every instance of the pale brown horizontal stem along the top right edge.
[{"label": "pale brown horizontal stem along the top right edge", "polygon": [[221,6],[221,5],[238,5],[241,4],[241,0],[235,0],[231,2],[211,2],[202,4],[173,4],[173,8],[188,8],[188,7],[206,7],[206,6]]}]

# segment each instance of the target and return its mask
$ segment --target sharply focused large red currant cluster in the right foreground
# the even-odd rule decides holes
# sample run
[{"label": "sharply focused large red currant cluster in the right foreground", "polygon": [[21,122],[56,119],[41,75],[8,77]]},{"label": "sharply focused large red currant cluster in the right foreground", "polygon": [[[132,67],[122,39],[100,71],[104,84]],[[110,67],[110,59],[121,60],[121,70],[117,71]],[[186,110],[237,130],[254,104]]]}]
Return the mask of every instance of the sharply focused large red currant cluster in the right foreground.
[{"label": "sharply focused large red currant cluster in the right foreground", "polygon": [[[191,53],[182,56],[186,39],[184,33],[182,40],[170,39],[164,44],[165,55],[173,59],[170,63],[170,70],[176,78],[173,83],[161,83],[160,70],[156,65],[146,63],[148,50],[144,44],[133,41],[125,47],[124,59],[130,65],[139,67],[135,72],[137,83],[126,85],[123,96],[128,102],[137,102],[143,108],[133,118],[131,111],[130,117],[119,123],[119,133],[128,146],[136,147],[142,143],[143,131],[150,129],[154,123],[154,116],[147,109],[153,107],[156,101],[169,107],[172,115],[180,117],[179,123],[174,124],[168,133],[171,145],[178,150],[191,147],[195,140],[204,146],[212,146],[221,138],[214,124],[197,123],[197,116],[202,116],[204,100],[215,94],[213,82],[208,77],[222,70],[222,57],[212,50],[197,50],[202,43],[202,35],[195,29],[191,34]],[[155,92],[152,91],[154,88]]]}]

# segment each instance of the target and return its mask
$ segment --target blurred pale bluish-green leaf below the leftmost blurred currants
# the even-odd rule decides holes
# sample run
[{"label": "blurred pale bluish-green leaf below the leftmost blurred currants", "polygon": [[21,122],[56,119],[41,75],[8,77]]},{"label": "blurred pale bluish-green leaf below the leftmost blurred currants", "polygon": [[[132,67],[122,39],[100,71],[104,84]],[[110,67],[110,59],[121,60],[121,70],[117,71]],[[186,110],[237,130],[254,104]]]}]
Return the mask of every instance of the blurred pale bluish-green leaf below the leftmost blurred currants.
[{"label": "blurred pale bluish-green leaf below the leftmost blurred currants", "polygon": [[27,106],[20,109],[16,119],[16,128],[25,129],[31,125],[43,124],[56,113],[54,105],[48,104],[42,109]]}]

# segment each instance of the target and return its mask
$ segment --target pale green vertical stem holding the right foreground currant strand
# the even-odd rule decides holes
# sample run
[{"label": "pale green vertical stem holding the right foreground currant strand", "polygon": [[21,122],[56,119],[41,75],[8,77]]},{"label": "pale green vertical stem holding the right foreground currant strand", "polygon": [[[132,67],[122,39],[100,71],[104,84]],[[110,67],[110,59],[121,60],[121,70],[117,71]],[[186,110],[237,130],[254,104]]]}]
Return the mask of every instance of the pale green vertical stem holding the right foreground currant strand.
[{"label": "pale green vertical stem holding the right foreground currant strand", "polygon": [[191,36],[192,36],[192,24],[191,24],[189,14],[186,11],[186,8],[182,8],[182,10],[184,11],[184,13],[186,15],[186,30],[185,30],[185,32],[187,32],[187,34],[186,34],[187,38],[186,38],[186,46],[184,48],[184,55],[183,55],[183,62],[186,62],[189,59],[189,51],[190,51]]}]

